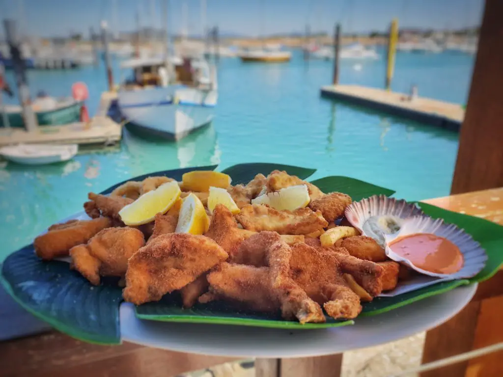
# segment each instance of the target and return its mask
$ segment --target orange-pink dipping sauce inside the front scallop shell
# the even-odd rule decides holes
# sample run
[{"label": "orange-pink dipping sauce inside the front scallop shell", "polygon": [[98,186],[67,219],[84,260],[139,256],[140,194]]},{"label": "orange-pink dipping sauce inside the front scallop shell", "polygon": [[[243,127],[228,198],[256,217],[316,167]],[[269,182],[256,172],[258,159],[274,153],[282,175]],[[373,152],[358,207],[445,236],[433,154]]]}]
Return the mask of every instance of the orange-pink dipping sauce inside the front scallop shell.
[{"label": "orange-pink dipping sauce inside the front scallop shell", "polygon": [[448,239],[435,234],[416,233],[399,237],[389,247],[414,266],[434,273],[455,273],[464,263],[459,248]]}]

